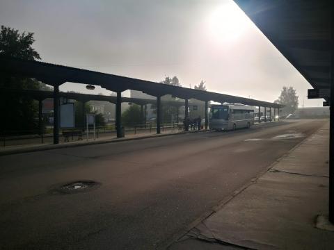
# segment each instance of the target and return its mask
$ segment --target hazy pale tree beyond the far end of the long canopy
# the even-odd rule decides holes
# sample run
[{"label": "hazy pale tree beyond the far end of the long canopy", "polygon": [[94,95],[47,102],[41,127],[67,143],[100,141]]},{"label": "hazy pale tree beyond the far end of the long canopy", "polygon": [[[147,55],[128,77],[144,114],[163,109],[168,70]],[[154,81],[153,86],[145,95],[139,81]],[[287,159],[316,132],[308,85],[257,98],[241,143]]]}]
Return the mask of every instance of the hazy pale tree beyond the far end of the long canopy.
[{"label": "hazy pale tree beyond the far end of the long canopy", "polygon": [[282,108],[283,115],[289,115],[294,113],[294,110],[298,108],[298,96],[296,94],[296,90],[292,87],[283,87],[283,90],[280,92],[280,97],[274,101],[275,103],[280,103],[285,105]]}]

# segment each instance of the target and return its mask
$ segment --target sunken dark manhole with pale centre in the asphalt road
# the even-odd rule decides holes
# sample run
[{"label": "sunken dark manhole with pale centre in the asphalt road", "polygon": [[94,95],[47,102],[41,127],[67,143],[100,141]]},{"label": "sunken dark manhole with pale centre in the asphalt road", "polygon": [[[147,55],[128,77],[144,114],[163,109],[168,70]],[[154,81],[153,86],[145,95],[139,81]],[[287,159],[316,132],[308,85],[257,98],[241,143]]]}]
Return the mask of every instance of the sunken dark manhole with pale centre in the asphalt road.
[{"label": "sunken dark manhole with pale centre in the asphalt road", "polygon": [[95,181],[72,181],[54,186],[51,190],[53,193],[75,194],[78,192],[88,192],[100,187],[101,183]]}]

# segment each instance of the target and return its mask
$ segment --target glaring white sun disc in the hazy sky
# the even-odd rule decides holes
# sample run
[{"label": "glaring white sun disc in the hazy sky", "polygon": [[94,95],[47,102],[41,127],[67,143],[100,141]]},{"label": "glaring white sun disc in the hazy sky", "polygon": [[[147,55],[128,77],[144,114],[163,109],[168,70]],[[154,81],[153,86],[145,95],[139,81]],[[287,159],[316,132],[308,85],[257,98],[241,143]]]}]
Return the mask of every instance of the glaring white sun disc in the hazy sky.
[{"label": "glaring white sun disc in the hazy sky", "polygon": [[209,15],[209,31],[218,41],[234,41],[244,33],[247,19],[234,4],[223,4]]}]

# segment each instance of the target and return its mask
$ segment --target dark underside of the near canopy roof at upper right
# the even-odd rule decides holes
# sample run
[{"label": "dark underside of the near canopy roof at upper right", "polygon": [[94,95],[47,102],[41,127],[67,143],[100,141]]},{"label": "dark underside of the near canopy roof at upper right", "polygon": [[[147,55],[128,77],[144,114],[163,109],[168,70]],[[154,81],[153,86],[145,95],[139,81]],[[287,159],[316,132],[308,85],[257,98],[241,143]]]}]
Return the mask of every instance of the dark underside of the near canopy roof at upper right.
[{"label": "dark underside of the near canopy roof at upper right", "polygon": [[330,88],[330,0],[234,1],[313,88]]}]

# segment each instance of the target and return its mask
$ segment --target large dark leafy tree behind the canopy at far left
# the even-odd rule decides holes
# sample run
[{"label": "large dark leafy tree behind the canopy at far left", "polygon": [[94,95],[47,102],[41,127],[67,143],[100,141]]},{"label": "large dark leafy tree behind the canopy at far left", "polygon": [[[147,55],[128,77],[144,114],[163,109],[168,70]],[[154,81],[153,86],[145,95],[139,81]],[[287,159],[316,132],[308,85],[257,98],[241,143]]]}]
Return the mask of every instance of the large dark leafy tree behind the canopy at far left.
[{"label": "large dark leafy tree behind the canopy at far left", "polygon": [[[40,59],[31,46],[35,42],[33,33],[19,31],[1,25],[0,55],[13,56],[25,60]],[[0,88],[38,90],[39,83],[31,78],[0,75]],[[38,129],[37,101],[30,97],[9,96],[0,98],[1,114],[5,121],[0,123],[0,131],[32,131]]]}]

